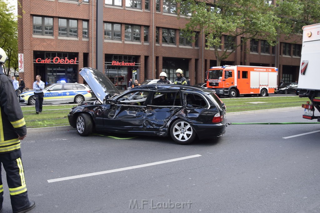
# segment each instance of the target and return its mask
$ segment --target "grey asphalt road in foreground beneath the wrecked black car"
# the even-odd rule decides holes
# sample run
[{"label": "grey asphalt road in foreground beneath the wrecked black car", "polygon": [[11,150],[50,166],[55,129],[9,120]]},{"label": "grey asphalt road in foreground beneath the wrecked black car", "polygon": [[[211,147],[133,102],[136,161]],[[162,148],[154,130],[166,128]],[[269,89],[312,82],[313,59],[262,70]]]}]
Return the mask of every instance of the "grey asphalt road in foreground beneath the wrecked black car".
[{"label": "grey asphalt road in foreground beneath the wrecked black car", "polygon": [[[227,117],[313,122],[300,108]],[[303,133],[310,134],[294,136]],[[220,139],[190,145],[75,130],[28,133],[21,149],[37,205],[30,213],[320,212],[319,138],[319,124],[233,124]],[[3,212],[11,212],[5,180]]]}]

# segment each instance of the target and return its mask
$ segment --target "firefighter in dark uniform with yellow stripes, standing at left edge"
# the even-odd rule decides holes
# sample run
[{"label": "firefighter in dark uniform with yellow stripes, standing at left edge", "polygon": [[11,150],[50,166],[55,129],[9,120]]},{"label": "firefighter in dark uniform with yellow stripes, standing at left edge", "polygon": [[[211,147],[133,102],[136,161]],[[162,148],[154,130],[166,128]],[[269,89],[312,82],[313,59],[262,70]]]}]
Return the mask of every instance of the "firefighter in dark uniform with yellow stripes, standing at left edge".
[{"label": "firefighter in dark uniform with yellow stripes, standing at left edge", "polygon": [[[36,204],[28,199],[20,151],[20,140],[26,137],[27,127],[12,82],[3,72],[2,65],[7,59],[0,48],[0,162],[7,175],[12,211],[17,213],[27,212]],[[3,194],[0,169],[0,211]]]}]

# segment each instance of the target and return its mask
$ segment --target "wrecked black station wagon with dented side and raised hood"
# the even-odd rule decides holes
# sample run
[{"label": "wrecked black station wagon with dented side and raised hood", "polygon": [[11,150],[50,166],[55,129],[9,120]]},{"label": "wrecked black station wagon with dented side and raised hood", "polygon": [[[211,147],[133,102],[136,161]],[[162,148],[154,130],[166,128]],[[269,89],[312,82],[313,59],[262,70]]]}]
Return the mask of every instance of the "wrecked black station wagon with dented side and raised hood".
[{"label": "wrecked black station wagon with dented side and raised hood", "polygon": [[224,134],[226,106],[211,90],[174,84],[148,84],[119,94],[113,83],[93,68],[80,75],[97,101],[73,107],[69,123],[81,136],[92,131],[171,136],[180,144]]}]

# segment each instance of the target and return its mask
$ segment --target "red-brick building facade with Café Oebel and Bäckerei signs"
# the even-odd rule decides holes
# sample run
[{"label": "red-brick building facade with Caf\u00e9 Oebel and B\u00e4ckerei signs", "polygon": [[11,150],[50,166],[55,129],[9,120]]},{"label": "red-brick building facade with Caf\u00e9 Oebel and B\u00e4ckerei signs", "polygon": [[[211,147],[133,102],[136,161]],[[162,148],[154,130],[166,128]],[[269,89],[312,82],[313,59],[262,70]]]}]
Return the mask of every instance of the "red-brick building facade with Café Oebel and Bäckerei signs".
[{"label": "red-brick building facade with Caf\u00e9 Oebel and B\u00e4ckerei signs", "polygon": [[[83,83],[78,70],[86,66],[97,68],[98,45],[103,52],[100,71],[118,89],[125,89],[130,78],[140,82],[156,79],[162,71],[172,81],[178,68],[191,85],[203,82],[205,71],[216,65],[214,51],[204,48],[201,32],[192,43],[179,35],[189,18],[178,19],[175,5],[170,2],[98,0],[98,8],[103,7],[103,23],[98,32],[103,36],[96,44],[100,38],[96,34],[96,1],[21,0],[18,49],[24,56],[24,72],[19,75],[29,88],[37,74],[46,85],[62,80]],[[279,44],[272,48],[264,40],[252,40],[221,65],[276,66],[278,80],[292,82],[298,80],[301,43],[300,35],[289,40],[280,36]]]}]

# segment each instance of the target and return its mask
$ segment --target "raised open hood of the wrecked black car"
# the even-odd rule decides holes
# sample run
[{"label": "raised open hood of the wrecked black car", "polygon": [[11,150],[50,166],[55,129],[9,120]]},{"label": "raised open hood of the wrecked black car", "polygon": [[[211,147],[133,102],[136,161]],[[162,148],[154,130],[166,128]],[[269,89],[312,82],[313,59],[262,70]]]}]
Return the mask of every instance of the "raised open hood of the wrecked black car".
[{"label": "raised open hood of the wrecked black car", "polygon": [[103,103],[106,95],[112,97],[115,94],[120,94],[119,90],[111,82],[111,80],[102,72],[91,67],[84,67],[79,74],[84,78],[94,95]]}]

